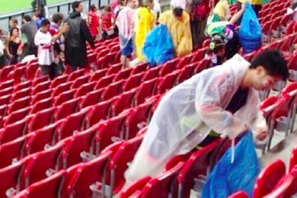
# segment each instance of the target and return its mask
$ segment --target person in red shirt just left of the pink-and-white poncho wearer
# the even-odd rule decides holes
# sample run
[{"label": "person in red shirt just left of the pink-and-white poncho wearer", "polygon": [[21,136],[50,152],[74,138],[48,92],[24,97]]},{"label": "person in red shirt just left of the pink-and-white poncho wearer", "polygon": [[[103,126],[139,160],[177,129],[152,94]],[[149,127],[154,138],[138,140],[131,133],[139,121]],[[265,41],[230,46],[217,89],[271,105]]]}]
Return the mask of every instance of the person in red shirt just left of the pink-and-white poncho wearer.
[{"label": "person in red shirt just left of the pink-and-white poncho wearer", "polygon": [[115,32],[115,18],[114,14],[111,11],[110,5],[105,5],[103,13],[100,17],[101,27],[102,27],[102,39],[107,40],[114,36]]}]

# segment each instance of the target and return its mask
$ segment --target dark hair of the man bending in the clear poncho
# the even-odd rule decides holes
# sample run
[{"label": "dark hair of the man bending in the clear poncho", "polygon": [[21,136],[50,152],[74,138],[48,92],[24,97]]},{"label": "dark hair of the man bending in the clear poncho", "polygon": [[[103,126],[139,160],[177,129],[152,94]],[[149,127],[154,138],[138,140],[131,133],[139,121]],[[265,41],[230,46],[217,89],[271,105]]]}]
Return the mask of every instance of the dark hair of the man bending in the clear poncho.
[{"label": "dark hair of the man bending in the clear poncho", "polygon": [[251,62],[249,68],[256,68],[258,66],[263,66],[270,76],[280,76],[283,80],[289,77],[287,61],[277,50],[267,50],[260,53]]}]

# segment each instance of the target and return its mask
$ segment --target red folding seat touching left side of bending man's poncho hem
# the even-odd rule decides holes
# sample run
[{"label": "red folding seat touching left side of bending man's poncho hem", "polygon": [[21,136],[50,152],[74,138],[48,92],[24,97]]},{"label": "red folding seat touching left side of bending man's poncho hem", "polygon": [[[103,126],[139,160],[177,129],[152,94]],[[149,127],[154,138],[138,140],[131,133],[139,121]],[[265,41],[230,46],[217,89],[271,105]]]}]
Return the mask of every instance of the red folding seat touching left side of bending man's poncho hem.
[{"label": "red folding seat touching left side of bending man's poncho hem", "polygon": [[123,188],[126,182],[124,173],[128,164],[133,160],[143,137],[142,135],[125,141],[112,156],[107,169],[111,172],[111,174],[107,174],[110,175],[110,195],[117,194]]}]

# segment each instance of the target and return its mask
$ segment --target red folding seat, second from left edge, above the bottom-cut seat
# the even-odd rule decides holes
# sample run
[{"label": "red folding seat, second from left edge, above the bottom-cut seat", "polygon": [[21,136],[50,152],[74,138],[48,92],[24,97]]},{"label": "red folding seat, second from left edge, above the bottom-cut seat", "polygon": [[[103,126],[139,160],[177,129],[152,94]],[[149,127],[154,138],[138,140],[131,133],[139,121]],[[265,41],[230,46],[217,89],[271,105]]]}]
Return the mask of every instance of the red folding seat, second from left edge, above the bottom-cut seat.
[{"label": "red folding seat, second from left edge, above the bottom-cut seat", "polygon": [[55,171],[61,169],[59,158],[65,142],[60,142],[53,147],[33,154],[27,163],[21,178],[21,189],[28,188],[30,185],[46,179]]}]

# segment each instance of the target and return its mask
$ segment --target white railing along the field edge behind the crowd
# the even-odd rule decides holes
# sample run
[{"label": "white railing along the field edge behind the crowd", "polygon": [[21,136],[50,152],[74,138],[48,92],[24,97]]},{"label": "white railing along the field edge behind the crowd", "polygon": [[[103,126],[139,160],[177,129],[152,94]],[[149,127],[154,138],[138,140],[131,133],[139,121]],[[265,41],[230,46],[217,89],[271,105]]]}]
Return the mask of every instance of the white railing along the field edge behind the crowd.
[{"label": "white railing along the field edge behind the crowd", "polygon": [[[60,3],[54,3],[48,5],[49,8],[49,16],[54,14],[55,12],[61,12],[65,17],[72,11],[71,3],[75,0],[68,0]],[[104,5],[110,3],[111,0],[81,0],[84,4],[84,14],[87,14],[89,11],[89,7],[92,4],[97,5],[98,7],[103,7]],[[169,6],[169,0],[161,0],[161,7],[162,9],[167,9]],[[32,16],[33,9],[25,9],[18,12],[12,12],[7,14],[0,15],[0,27],[7,31],[9,29],[9,20],[11,17],[15,17],[18,20],[18,23],[22,23],[22,18],[24,15],[29,14]]]}]

